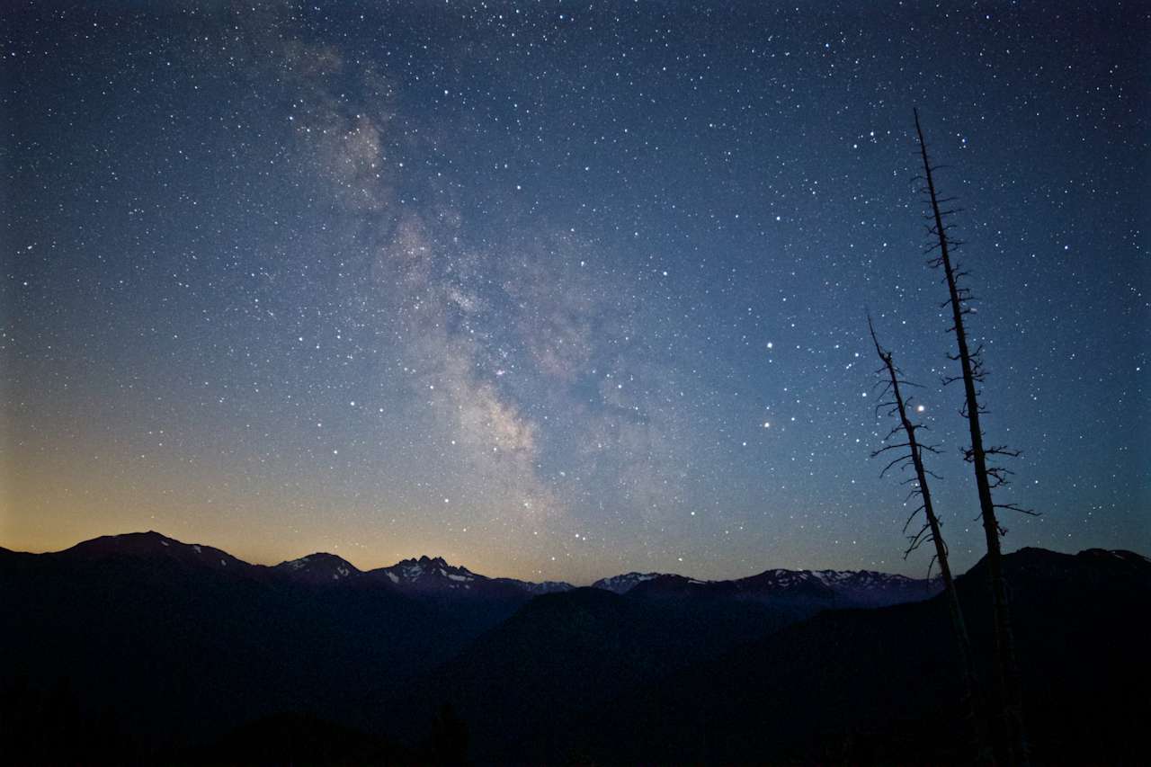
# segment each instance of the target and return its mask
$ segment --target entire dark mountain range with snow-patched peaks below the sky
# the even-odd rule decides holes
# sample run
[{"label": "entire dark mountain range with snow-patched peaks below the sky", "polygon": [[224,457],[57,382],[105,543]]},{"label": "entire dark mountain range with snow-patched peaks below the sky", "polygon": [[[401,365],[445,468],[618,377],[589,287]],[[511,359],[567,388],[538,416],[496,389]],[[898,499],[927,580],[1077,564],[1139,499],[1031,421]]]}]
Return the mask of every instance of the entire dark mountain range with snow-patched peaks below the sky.
[{"label": "entire dark mountain range with snow-patched peaks below the sky", "polygon": [[[1005,565],[1037,757],[1139,761],[1151,564]],[[959,587],[985,669],[982,564]],[[70,732],[122,764],[961,762],[935,593],[867,571],[574,588],[427,556],[265,567],[154,532],[0,549],[0,749],[36,764]]]}]

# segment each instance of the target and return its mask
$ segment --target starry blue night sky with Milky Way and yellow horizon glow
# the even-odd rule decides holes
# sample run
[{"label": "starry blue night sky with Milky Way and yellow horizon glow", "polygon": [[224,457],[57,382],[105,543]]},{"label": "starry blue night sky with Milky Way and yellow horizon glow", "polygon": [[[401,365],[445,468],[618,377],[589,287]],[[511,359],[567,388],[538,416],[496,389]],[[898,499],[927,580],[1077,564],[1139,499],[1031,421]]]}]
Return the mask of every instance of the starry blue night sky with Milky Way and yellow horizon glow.
[{"label": "starry blue night sky with Milky Way and yellow horizon glow", "polygon": [[8,6],[0,545],[576,583],[906,562],[866,311],[983,550],[1151,553],[1142,2]]}]

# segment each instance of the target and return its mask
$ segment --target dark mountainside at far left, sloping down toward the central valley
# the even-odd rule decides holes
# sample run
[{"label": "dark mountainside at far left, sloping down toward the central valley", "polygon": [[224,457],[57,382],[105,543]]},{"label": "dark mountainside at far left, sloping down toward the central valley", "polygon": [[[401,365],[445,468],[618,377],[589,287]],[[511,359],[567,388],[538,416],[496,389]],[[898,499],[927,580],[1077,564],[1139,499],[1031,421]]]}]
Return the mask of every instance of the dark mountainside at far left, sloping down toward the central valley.
[{"label": "dark mountainside at far left, sloping down toward the central valley", "polygon": [[148,747],[283,711],[346,720],[531,598],[443,606],[367,579],[319,587],[155,533],[6,552],[0,570],[18,623],[0,631],[5,676],[40,689],[67,678],[82,706],[110,706]]}]

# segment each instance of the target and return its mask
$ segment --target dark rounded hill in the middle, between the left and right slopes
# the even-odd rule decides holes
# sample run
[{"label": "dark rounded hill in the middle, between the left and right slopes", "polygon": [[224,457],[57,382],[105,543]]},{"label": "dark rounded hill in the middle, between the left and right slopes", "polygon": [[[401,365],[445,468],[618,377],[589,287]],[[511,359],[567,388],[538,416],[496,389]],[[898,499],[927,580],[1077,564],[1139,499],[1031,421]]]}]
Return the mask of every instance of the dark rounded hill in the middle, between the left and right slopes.
[{"label": "dark rounded hill in the middle, between the left and right slopes", "polygon": [[478,759],[547,760],[546,738],[538,751],[520,751],[526,735],[792,620],[791,610],[753,602],[653,600],[599,588],[548,594],[389,701],[380,721],[420,732],[424,713],[450,701],[471,727]]}]

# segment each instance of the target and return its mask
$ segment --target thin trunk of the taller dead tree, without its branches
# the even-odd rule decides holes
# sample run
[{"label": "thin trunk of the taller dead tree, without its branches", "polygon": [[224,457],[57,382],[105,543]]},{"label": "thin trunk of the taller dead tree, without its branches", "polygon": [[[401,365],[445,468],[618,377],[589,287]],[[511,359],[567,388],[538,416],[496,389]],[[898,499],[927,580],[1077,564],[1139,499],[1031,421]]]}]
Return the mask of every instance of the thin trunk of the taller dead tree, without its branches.
[{"label": "thin trunk of the taller dead tree, without its branches", "polygon": [[944,228],[943,214],[939,211],[939,199],[936,195],[935,181],[931,176],[931,164],[928,160],[927,142],[920,127],[918,111],[915,112],[915,132],[920,139],[920,154],[923,159],[923,173],[927,177],[928,192],[931,197],[931,213],[935,219],[935,234],[939,238],[939,261],[946,275],[947,291],[954,322],[955,343],[959,347],[959,364],[962,371],[963,393],[966,395],[966,416],[971,438],[969,456],[975,468],[975,486],[980,496],[980,514],[983,523],[983,534],[988,545],[988,575],[991,585],[992,614],[996,638],[996,682],[1003,707],[1004,726],[1007,729],[1011,762],[1027,765],[1030,761],[1030,749],[1023,728],[1022,698],[1019,682],[1019,667],[1015,659],[1015,640],[1012,631],[1011,608],[1007,601],[1007,584],[1004,579],[1003,562],[999,547],[1000,527],[996,519],[996,507],[991,499],[991,481],[988,474],[988,457],[983,446],[983,431],[980,427],[978,393],[975,388],[975,374],[971,364],[971,352],[967,344],[967,333],[963,328],[963,305],[960,289],[955,283],[955,272],[952,268],[948,250],[947,231]]}]

